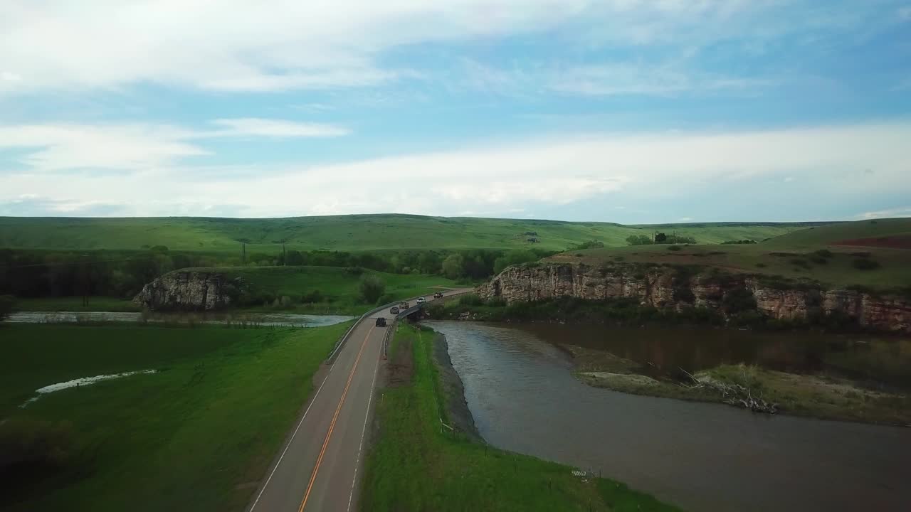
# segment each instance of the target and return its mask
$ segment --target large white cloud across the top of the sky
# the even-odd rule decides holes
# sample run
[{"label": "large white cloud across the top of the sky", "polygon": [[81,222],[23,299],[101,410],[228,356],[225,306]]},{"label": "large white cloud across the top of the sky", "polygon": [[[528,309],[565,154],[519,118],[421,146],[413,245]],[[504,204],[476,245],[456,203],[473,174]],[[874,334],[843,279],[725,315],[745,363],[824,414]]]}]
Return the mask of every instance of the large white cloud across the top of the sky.
[{"label": "large white cloud across the top of the sky", "polygon": [[[776,0],[6,0],[0,93],[137,82],[225,91],[375,86],[418,76],[386,64],[385,54],[403,46],[528,33],[556,35],[557,44],[578,49],[704,46],[807,26],[874,25],[865,15],[873,8],[864,5],[841,16],[804,16],[800,9]],[[610,71],[621,77],[608,90],[637,78],[622,77],[635,71]],[[597,78],[588,77],[588,90],[604,90]],[[659,91],[679,87],[679,77],[647,78]]]}]

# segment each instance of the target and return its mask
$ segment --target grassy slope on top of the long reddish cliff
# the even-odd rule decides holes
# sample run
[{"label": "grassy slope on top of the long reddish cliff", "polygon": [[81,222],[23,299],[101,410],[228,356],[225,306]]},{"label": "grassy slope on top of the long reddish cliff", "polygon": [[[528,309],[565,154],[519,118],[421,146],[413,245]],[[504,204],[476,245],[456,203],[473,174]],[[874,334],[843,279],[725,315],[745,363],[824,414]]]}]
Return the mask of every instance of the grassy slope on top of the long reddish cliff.
[{"label": "grassy slope on top of the long reddish cliff", "polygon": [[[822,226],[749,245],[639,245],[586,251],[569,251],[548,261],[581,262],[589,265],[638,262],[699,265],[722,271],[808,279],[829,287],[862,286],[893,291],[911,285],[911,250],[889,247],[841,245],[840,241],[875,239],[911,234],[911,220],[865,220]],[[826,250],[820,257],[814,251]],[[875,269],[861,270],[855,261],[875,261]]]}]

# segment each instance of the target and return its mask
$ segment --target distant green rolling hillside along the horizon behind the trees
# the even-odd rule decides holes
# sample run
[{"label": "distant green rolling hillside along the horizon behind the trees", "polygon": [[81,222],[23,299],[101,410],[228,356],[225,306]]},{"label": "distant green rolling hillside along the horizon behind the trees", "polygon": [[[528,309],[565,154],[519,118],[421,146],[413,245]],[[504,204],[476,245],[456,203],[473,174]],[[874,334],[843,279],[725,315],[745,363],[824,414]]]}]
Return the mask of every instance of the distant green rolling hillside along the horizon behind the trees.
[{"label": "distant green rolling hillside along the horizon behind the trees", "polygon": [[[22,218],[0,217],[0,248],[138,250],[164,245],[172,251],[368,251],[402,249],[521,249],[562,251],[582,241],[625,245],[631,234],[676,231],[700,243],[764,240],[814,224],[707,223],[623,226],[607,222],[343,215],[288,219]],[[535,235],[527,233],[537,233]],[[528,241],[536,238],[537,243]]]}]

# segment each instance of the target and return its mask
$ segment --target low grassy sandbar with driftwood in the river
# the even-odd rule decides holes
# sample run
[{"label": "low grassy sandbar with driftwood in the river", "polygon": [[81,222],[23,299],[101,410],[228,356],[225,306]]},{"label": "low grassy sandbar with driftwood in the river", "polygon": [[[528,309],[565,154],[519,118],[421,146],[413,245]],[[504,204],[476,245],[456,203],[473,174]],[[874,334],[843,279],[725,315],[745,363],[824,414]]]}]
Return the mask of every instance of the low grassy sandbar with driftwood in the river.
[{"label": "low grassy sandbar with driftwood in the river", "polygon": [[757,365],[721,364],[679,379],[646,374],[641,364],[606,351],[571,344],[578,379],[630,394],[749,407],[750,398],[777,413],[885,425],[911,425],[911,398],[896,390],[872,389],[859,381],[826,374],[792,374]]}]

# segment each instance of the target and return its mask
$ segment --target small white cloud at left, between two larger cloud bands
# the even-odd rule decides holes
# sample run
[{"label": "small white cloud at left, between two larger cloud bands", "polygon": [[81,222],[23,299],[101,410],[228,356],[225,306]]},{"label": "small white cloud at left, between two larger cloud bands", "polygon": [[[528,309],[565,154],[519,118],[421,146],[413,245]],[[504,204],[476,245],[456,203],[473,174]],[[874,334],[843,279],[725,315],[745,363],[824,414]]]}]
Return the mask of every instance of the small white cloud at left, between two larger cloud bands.
[{"label": "small white cloud at left, between two larger cloud bands", "polygon": [[108,169],[144,171],[189,157],[210,155],[204,138],[338,137],[349,133],[334,125],[281,119],[235,118],[212,121],[220,129],[192,130],[150,124],[0,125],[0,149],[26,151],[20,163],[36,171]]}]

